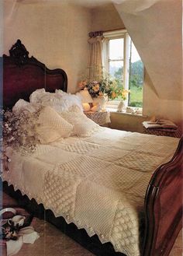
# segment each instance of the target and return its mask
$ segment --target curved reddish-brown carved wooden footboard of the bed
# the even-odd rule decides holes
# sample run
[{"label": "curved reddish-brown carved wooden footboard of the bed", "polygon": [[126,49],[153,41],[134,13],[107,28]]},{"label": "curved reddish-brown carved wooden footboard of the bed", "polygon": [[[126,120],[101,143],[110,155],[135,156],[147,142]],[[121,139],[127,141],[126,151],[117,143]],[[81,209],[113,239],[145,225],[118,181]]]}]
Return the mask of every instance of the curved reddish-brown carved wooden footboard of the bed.
[{"label": "curved reddish-brown carved wooden footboard of the bed", "polygon": [[168,163],[158,167],[145,198],[143,256],[167,256],[182,227],[183,137]]}]

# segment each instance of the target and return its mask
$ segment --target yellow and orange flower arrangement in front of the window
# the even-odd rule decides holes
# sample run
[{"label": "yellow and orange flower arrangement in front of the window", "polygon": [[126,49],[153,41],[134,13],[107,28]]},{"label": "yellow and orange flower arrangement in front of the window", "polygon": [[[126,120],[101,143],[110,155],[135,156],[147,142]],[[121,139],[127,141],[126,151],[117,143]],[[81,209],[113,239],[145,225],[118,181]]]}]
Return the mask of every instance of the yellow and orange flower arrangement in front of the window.
[{"label": "yellow and orange flower arrangement in front of the window", "polygon": [[129,93],[129,90],[123,89],[122,86],[119,86],[118,79],[109,79],[102,78],[99,81],[87,82],[86,79],[79,82],[80,89],[88,89],[92,98],[97,98],[101,96],[108,96],[109,100],[114,100],[116,98],[121,98],[126,100],[126,96]]}]

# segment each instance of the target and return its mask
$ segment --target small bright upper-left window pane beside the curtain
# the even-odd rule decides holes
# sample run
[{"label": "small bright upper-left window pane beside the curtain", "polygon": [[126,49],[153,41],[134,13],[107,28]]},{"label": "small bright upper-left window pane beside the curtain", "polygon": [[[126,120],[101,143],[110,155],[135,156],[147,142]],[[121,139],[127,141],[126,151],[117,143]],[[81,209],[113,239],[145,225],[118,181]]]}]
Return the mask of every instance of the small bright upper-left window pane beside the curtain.
[{"label": "small bright upper-left window pane beside the curtain", "polygon": [[123,38],[109,40],[109,59],[110,60],[123,59],[123,44],[124,44]]}]

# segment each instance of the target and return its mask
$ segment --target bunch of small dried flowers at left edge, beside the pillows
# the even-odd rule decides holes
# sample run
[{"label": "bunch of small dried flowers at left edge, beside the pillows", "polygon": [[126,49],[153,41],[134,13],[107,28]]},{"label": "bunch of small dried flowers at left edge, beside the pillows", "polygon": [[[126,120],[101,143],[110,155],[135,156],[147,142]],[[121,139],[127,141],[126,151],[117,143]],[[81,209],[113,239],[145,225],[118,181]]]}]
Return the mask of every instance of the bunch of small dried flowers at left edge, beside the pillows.
[{"label": "bunch of small dried flowers at left edge, beside the pillows", "polygon": [[35,114],[28,111],[12,113],[11,110],[1,110],[0,114],[2,149],[10,146],[20,153],[34,152],[38,142],[36,120],[39,117],[39,111]]}]

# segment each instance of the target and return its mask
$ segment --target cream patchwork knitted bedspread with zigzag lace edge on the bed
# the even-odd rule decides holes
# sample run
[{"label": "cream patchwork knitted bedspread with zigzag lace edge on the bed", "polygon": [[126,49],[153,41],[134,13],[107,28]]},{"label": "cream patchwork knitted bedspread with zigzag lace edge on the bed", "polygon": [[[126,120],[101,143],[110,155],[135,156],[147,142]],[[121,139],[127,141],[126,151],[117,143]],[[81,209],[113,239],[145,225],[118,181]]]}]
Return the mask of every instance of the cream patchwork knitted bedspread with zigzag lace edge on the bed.
[{"label": "cream patchwork knitted bedspread with zigzag lace edge on the bed", "polygon": [[171,137],[100,128],[87,138],[40,145],[33,155],[9,149],[12,161],[3,180],[89,236],[139,256],[147,184],[177,146]]}]

